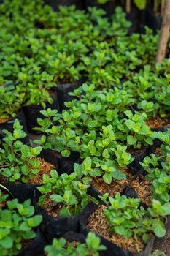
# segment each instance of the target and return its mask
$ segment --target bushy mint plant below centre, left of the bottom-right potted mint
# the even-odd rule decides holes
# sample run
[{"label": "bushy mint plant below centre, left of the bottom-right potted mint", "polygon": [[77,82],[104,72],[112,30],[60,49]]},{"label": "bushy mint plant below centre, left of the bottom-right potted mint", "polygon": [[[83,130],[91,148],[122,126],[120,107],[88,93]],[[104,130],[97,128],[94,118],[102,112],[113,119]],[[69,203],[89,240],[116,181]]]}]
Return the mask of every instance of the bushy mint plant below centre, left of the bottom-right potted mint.
[{"label": "bushy mint plant below centre, left of the bottom-right potted mint", "polygon": [[51,170],[50,176],[43,175],[43,184],[38,187],[42,196],[39,198],[39,205],[43,207],[43,203],[50,197],[53,207],[58,203],[62,204],[59,211],[60,216],[70,216],[80,214],[88,201],[92,198],[88,195],[89,184],[83,183],[77,177],[77,173],[70,175],[63,173],[58,176],[56,170]]}]

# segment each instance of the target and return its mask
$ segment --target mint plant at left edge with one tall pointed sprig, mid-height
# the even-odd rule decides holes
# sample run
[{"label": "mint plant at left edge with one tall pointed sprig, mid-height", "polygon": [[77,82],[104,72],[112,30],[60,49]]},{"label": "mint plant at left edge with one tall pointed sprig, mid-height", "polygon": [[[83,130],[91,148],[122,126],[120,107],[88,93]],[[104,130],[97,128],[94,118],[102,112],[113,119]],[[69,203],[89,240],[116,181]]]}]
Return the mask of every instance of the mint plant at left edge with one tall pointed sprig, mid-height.
[{"label": "mint plant at left edge with one tall pointed sprig, mid-height", "polygon": [[32,148],[23,144],[20,139],[26,137],[26,133],[22,128],[16,119],[13,132],[4,130],[6,136],[0,148],[0,175],[9,182],[26,183],[39,173],[40,162],[36,157],[42,151],[42,147]]}]

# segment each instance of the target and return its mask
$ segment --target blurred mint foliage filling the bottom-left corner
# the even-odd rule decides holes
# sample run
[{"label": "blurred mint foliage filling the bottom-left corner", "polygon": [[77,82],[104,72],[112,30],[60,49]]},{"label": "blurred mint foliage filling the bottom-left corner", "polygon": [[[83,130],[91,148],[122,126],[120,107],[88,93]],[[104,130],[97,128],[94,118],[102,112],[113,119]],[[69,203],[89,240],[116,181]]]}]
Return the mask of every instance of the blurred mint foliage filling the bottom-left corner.
[{"label": "blurred mint foliage filling the bottom-left corner", "polygon": [[0,255],[16,255],[22,248],[22,241],[35,237],[34,227],[42,221],[42,216],[34,214],[31,201],[23,204],[17,199],[7,202],[7,208],[0,208]]}]

